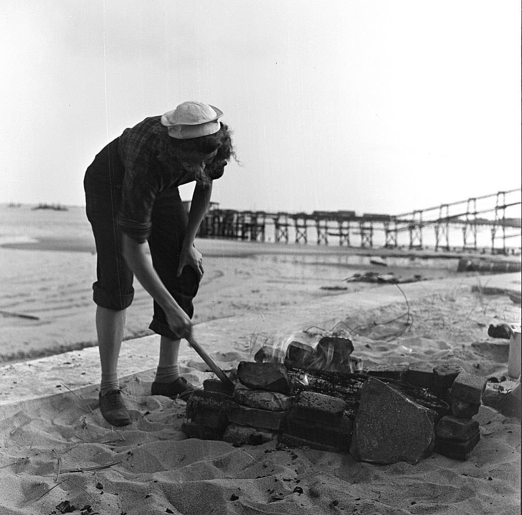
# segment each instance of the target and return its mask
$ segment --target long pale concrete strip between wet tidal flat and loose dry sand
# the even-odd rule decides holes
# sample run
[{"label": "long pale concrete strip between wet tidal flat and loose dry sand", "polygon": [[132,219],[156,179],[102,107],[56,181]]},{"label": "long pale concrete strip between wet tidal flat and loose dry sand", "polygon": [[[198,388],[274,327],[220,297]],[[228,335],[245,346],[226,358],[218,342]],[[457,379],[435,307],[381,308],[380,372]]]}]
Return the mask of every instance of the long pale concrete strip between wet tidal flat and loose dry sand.
[{"label": "long pale concrete strip between wet tidal flat and loose dry sand", "polygon": [[[506,294],[515,292],[520,295],[520,273],[421,281],[401,284],[400,287],[409,301],[437,291],[455,291],[460,288],[469,291],[472,287],[495,287]],[[250,357],[252,342],[259,333],[275,334],[282,331],[288,334],[303,325],[339,321],[353,313],[401,302],[404,302],[404,296],[399,289],[395,285],[384,285],[359,292],[339,293],[313,303],[288,306],[284,311],[252,313],[205,322],[194,327],[194,334],[212,357],[230,351]],[[119,363],[120,378],[123,380],[126,376],[139,373],[144,380],[152,381],[158,349],[157,335],[123,342]],[[193,349],[182,344],[180,362],[183,364],[189,360],[202,362]],[[34,406],[34,402],[42,399],[52,402],[53,396],[68,392],[69,389],[76,392],[81,388],[96,386],[99,384],[99,375],[97,347],[4,365],[0,367],[0,418],[16,410]]]}]

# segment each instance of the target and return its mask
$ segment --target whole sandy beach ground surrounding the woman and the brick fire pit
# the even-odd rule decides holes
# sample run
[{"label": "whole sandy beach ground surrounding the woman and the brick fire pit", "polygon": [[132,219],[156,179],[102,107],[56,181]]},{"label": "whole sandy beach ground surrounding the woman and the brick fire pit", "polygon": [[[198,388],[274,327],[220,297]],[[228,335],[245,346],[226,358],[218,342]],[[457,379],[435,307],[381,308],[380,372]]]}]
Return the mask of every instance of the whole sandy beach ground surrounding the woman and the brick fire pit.
[{"label": "whole sandy beach ground surrounding the woman and the brick fire pit", "polygon": [[[122,351],[133,424],[112,428],[98,409],[88,227],[79,214],[78,225],[63,234],[56,234],[56,224],[54,233],[49,224],[33,224],[30,233],[22,225],[4,230],[0,247],[0,310],[8,313],[0,334],[0,512],[520,512],[520,420],[488,406],[474,417],[481,440],[464,462],[433,453],[416,465],[374,465],[276,442],[233,447],[187,439],[185,404],[150,395],[156,337],[132,339],[148,334],[150,301],[139,288]],[[518,322],[520,305],[502,291],[488,294],[489,276],[457,274],[449,258],[437,264],[396,253],[383,267],[370,262],[379,251],[361,256],[338,248],[210,241],[198,247],[206,273],[195,330],[224,370],[304,324],[342,322],[354,355],[365,363],[451,360],[476,375],[500,380],[507,374],[506,340],[488,337],[487,329]],[[403,284],[401,291],[343,280],[368,271],[429,280]],[[519,290],[519,274],[510,275]],[[49,356],[59,351],[67,352]],[[186,345],[181,362],[198,385],[212,376]],[[41,396],[52,389],[54,395]]]}]

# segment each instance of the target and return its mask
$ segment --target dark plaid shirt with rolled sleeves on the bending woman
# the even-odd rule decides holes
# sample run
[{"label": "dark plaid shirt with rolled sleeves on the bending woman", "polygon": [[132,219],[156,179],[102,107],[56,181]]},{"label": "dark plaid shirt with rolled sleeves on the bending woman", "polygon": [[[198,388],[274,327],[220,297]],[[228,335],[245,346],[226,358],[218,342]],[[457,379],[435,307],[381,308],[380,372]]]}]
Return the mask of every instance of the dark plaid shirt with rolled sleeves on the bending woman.
[{"label": "dark plaid shirt with rolled sleeves on the bending woman", "polygon": [[[195,180],[193,173],[184,170],[179,164],[168,162],[162,156],[171,144],[171,138],[160,118],[146,118],[132,129],[125,129],[119,141],[125,176],[118,227],[142,243],[150,235],[156,195],[167,188]],[[224,164],[211,164],[206,171],[212,179],[218,179],[223,175]]]}]

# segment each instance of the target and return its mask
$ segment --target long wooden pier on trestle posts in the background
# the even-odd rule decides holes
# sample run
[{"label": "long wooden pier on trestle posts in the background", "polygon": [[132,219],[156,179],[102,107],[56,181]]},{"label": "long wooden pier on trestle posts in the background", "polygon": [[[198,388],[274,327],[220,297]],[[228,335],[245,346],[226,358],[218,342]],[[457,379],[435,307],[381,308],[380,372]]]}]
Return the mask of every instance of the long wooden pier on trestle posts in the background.
[{"label": "long wooden pier on trestle posts in the background", "polygon": [[[512,238],[520,238],[520,192],[520,189],[499,191],[399,215],[357,215],[355,211],[270,213],[219,209],[214,205],[205,216],[198,236],[317,245],[335,241],[347,247],[422,249],[426,246],[426,234],[432,230],[434,250],[450,251],[478,250],[477,232],[487,228],[491,252],[508,254],[520,250],[519,246],[509,245],[515,242]],[[454,241],[450,243],[452,237]]]}]

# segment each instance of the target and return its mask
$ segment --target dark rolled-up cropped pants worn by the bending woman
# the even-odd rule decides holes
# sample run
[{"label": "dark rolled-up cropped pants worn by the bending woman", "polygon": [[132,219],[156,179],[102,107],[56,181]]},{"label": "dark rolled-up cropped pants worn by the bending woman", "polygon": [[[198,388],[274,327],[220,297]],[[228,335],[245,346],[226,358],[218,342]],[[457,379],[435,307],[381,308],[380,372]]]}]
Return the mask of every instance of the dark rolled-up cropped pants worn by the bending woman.
[{"label": "dark rolled-up cropped pants worn by the bending woman", "polygon": [[[124,175],[116,139],[94,158],[84,179],[87,218],[97,251],[93,300],[97,305],[115,311],[124,310],[134,298],[134,276],[123,258],[122,233],[117,226]],[[178,189],[170,188],[159,193],[152,209],[152,231],[148,238],[152,265],[165,288],[192,318],[192,300],[198,290],[197,274],[186,266],[181,276],[176,277],[186,226],[187,212]],[[179,338],[168,326],[165,313],[156,301],[149,328],[159,335]]]}]

